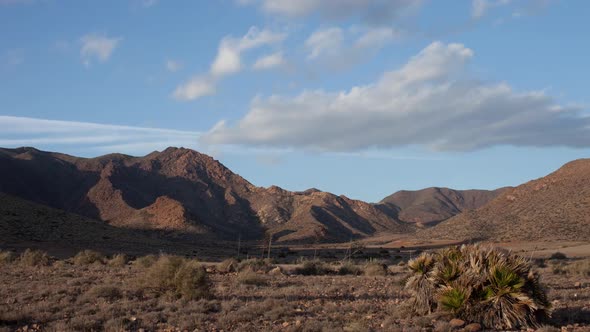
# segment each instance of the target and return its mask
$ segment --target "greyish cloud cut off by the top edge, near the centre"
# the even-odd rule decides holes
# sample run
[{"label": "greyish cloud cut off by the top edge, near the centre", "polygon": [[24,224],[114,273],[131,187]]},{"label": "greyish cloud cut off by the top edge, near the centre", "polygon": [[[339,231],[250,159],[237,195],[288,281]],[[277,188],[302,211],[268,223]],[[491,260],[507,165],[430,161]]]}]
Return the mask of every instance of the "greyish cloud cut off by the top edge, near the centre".
[{"label": "greyish cloud cut off by the top edge, near the centre", "polygon": [[371,24],[389,22],[421,5],[421,0],[260,0],[271,15],[300,18],[319,15],[328,20],[358,18]]}]

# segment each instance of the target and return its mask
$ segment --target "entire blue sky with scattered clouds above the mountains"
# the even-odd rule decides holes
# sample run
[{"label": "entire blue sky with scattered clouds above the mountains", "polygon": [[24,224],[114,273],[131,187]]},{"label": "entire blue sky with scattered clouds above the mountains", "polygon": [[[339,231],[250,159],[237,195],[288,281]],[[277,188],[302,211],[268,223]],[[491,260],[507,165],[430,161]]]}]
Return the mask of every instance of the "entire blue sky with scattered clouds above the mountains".
[{"label": "entire blue sky with scattered clouds above the mountains", "polygon": [[0,146],[377,202],[590,154],[585,0],[0,0]]}]

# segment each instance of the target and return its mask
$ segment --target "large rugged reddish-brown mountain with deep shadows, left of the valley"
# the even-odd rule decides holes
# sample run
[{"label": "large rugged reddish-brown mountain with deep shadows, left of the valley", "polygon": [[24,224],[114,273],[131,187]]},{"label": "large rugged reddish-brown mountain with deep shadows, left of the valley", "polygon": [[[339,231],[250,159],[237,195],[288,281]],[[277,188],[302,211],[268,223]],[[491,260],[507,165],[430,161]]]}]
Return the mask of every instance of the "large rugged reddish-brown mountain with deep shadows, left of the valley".
[{"label": "large rugged reddish-brown mountain with deep shadows, left of the valley", "polygon": [[235,240],[348,241],[413,226],[374,205],[319,190],[256,187],[199,152],[78,158],[0,149],[0,192],[111,226]]}]

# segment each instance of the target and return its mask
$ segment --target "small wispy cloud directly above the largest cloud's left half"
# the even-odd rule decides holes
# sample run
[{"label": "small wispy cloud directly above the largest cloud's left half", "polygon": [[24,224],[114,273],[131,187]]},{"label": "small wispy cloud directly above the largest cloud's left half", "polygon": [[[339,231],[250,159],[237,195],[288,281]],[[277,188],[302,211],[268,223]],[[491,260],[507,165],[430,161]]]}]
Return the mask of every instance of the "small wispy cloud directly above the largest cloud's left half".
[{"label": "small wispy cloud directly above the largest cloud's left half", "polygon": [[327,27],[311,33],[304,46],[308,60],[339,69],[370,58],[399,37],[401,33],[390,27]]}]

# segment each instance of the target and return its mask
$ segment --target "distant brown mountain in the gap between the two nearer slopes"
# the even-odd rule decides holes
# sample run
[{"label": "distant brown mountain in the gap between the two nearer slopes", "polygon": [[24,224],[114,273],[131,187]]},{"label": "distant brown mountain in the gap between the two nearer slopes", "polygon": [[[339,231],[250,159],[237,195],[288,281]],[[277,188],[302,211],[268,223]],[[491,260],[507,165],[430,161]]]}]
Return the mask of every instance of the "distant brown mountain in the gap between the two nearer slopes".
[{"label": "distant brown mountain in the gap between the two nearer slopes", "polygon": [[432,187],[416,191],[402,190],[379,203],[397,211],[399,220],[430,225],[477,209],[506,189],[454,190]]}]

